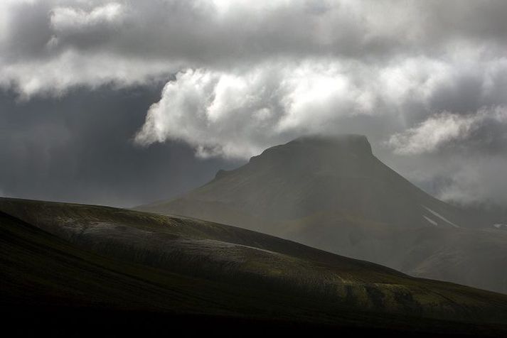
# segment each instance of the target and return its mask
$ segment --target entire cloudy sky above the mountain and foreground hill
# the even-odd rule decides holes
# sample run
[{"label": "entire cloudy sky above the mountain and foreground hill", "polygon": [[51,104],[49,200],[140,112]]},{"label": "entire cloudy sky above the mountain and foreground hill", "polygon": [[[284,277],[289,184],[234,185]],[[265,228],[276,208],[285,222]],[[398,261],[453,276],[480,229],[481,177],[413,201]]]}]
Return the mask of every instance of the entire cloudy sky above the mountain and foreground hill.
[{"label": "entire cloudy sky above the mountain and foreground hill", "polygon": [[507,205],[507,1],[0,1],[0,195],[134,206],[361,133]]}]

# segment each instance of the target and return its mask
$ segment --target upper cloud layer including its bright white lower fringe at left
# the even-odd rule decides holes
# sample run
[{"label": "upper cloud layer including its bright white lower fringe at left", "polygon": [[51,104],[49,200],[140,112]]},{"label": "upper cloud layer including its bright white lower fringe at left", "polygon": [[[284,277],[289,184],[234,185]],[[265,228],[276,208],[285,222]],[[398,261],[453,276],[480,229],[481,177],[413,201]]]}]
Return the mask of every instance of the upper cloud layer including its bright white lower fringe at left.
[{"label": "upper cloud layer including its bright white lower fringe at left", "polygon": [[[467,53],[493,60],[506,48],[503,1],[489,6],[476,1],[1,2],[0,75],[4,87],[28,97],[111,81],[129,86],[186,68],[228,70],[315,58],[382,66],[395,58],[446,62],[449,55]],[[62,58],[72,62],[59,67]],[[112,71],[108,59],[115,60]],[[92,75],[75,72],[78,67],[70,63],[93,69]],[[52,77],[32,87],[27,83],[39,81],[31,78],[34,66],[62,77],[75,72],[75,80],[62,86]],[[116,75],[126,68],[137,72]]]}]

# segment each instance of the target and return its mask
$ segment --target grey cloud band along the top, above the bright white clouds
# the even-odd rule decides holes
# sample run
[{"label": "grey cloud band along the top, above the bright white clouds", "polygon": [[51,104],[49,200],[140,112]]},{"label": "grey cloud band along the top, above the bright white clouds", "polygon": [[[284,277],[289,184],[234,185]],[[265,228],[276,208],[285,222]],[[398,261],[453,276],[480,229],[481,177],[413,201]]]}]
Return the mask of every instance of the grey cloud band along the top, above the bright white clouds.
[{"label": "grey cloud band along the top, above the bright white clouds", "polygon": [[55,52],[100,46],[208,65],[274,55],[432,55],[449,43],[501,47],[507,13],[504,1],[46,0],[9,9],[11,36],[36,33],[21,49],[42,50],[55,36]]}]

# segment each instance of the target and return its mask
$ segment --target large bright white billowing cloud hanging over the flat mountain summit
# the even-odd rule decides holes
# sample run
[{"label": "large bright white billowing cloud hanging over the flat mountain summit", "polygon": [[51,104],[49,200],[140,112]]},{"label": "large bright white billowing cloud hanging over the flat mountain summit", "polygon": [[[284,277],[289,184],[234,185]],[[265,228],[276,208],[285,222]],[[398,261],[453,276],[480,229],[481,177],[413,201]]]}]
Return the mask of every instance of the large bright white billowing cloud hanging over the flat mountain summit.
[{"label": "large bright white billowing cloud hanging over the flat mountain summit", "polygon": [[[391,97],[397,82],[390,73],[398,67],[410,66],[378,69],[314,59],[228,71],[186,70],[166,84],[136,141],[183,140],[201,156],[247,158],[301,134],[340,132],[342,119],[400,109],[407,94]],[[403,90],[425,91],[427,76],[403,84]],[[403,82],[404,75],[397,80]]]}]

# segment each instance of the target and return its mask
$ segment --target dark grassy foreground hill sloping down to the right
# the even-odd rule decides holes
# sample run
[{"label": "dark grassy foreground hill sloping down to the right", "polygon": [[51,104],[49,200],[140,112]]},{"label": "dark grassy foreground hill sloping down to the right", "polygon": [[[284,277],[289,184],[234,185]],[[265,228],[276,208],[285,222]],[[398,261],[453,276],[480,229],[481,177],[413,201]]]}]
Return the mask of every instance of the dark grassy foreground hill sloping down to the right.
[{"label": "dark grassy foreground hill sloping down to the right", "polygon": [[3,328],[21,334],[507,333],[506,295],[110,207],[0,199],[0,271]]}]

